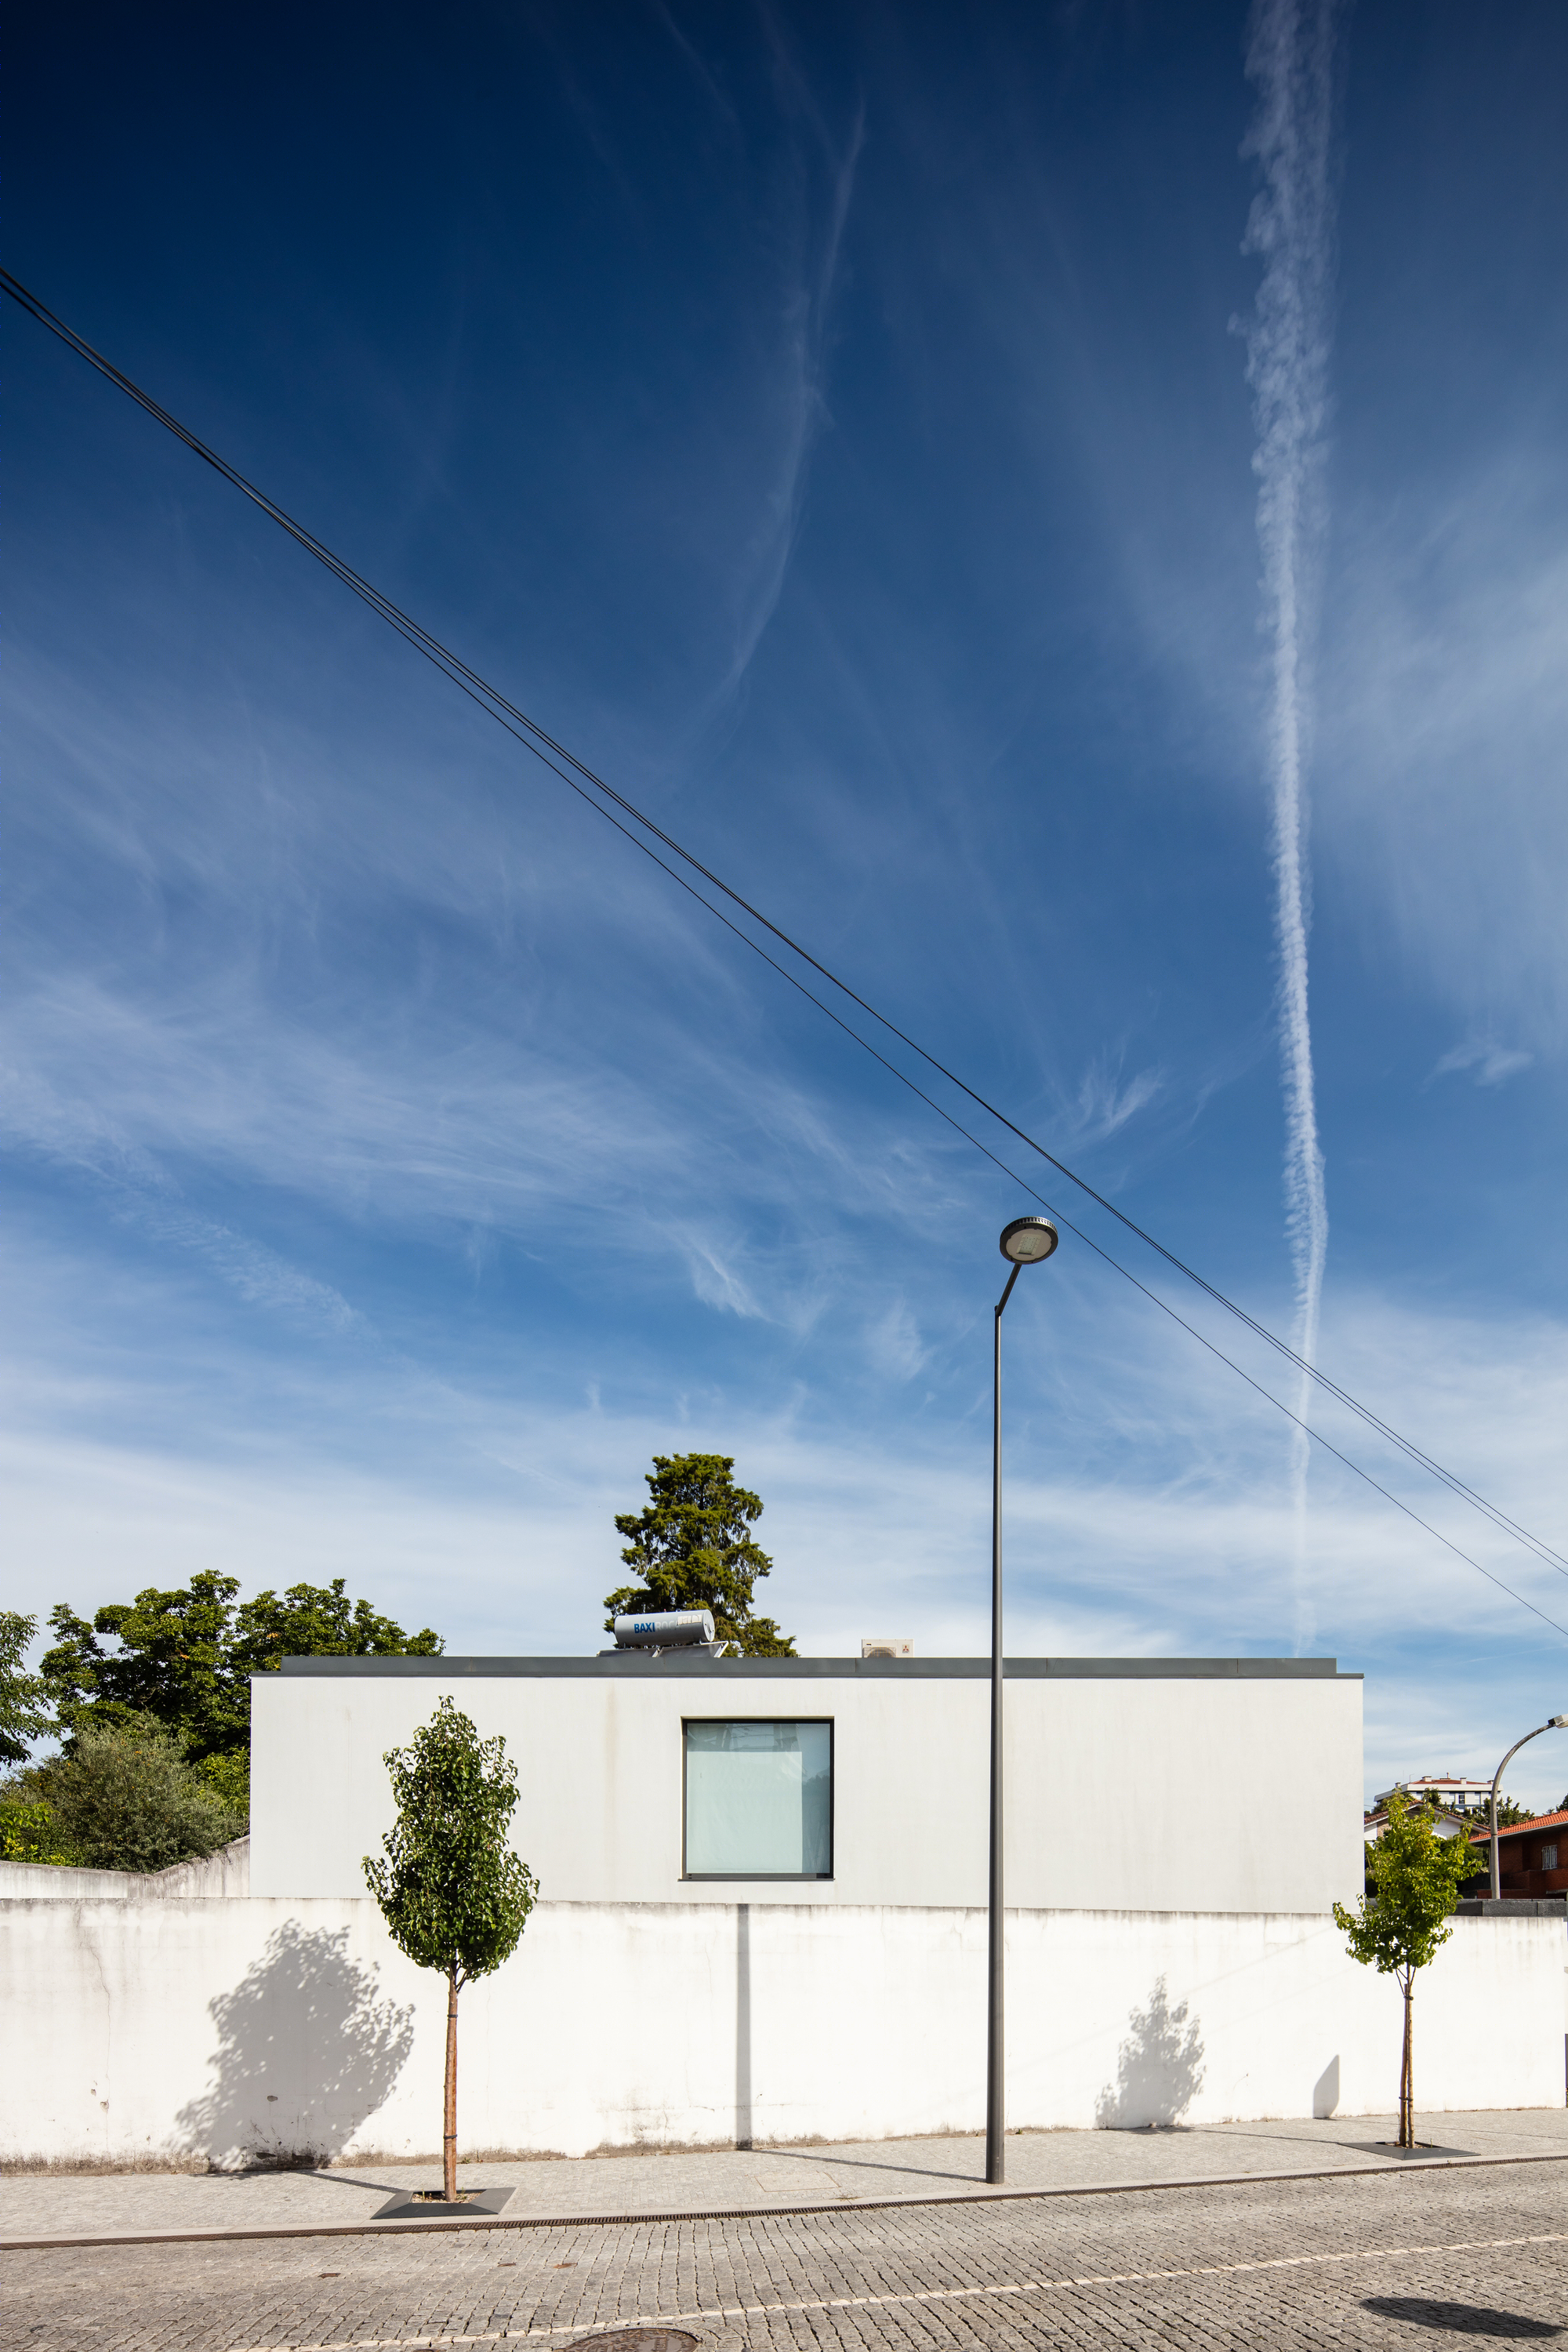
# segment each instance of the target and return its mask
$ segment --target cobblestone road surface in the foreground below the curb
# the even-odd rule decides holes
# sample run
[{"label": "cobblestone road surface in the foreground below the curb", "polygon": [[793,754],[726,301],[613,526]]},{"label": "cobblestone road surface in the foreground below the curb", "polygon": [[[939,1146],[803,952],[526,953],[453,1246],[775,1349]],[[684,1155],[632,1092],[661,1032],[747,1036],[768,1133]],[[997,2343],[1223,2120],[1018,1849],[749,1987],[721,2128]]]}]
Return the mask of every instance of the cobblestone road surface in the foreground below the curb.
[{"label": "cobblestone road surface in the foreground below the curb", "polygon": [[1020,2204],[543,2225],[423,2239],[45,2249],[5,2258],[0,2345],[282,2352],[665,2321],[701,2352],[947,2345],[1568,2347],[1568,2166],[1086,2192]]}]

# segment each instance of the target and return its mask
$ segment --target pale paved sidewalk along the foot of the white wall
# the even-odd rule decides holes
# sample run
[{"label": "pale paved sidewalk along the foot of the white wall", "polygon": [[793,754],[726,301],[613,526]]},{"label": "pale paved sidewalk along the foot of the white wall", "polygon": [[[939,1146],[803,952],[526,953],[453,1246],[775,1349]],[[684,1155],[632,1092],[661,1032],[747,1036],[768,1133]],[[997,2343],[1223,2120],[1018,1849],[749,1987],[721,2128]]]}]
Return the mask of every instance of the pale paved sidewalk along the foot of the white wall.
[{"label": "pale paved sidewalk along the foot of the white wall", "polygon": [[[1429,2164],[1568,2159],[1566,2107],[1418,2117],[1418,2133],[1441,2150],[1420,2159]],[[985,2187],[985,2143],[978,2136],[835,2147],[719,2147],[701,2154],[503,2157],[463,2164],[461,2185],[515,2183],[508,2225],[630,2220],[1389,2171],[1410,2164],[1378,2147],[1392,2136],[1392,2117],[1215,2124],[1194,2131],[1020,2131],[1006,2143],[1006,2190]],[[0,2183],[0,2246],[190,2232],[428,2230],[430,2223],[371,2220],[376,2206],[409,2187],[440,2187],[440,2164],[350,2161],[320,2173],[9,2173]]]}]

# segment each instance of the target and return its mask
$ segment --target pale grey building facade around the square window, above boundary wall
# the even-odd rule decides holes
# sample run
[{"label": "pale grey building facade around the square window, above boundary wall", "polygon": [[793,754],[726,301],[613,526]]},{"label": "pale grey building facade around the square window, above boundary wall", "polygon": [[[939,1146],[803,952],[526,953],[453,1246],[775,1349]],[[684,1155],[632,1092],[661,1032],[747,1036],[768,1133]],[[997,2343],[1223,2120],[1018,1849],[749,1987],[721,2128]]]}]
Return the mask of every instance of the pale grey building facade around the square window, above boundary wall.
[{"label": "pale grey building facade around the square window, above boundary wall", "polygon": [[[983,1661],[303,1663],[313,1670],[252,1684],[256,1893],[364,1891],[362,1856],[393,1823],[381,1757],[451,1693],[487,1738],[505,1733],[522,1785],[512,1842],[550,1900],[696,1891],[682,1879],[689,1715],[832,1717],[835,1877],[811,1884],[813,1905],[985,1900]],[[1326,1912],[1361,1891],[1359,1677],[1333,1661],[1319,1672],[1319,1661],[1048,1661],[1048,1675],[1032,1672],[1044,1665],[1009,1668],[1011,1903]],[[797,1882],[745,1886],[759,1905],[802,1900]]]}]

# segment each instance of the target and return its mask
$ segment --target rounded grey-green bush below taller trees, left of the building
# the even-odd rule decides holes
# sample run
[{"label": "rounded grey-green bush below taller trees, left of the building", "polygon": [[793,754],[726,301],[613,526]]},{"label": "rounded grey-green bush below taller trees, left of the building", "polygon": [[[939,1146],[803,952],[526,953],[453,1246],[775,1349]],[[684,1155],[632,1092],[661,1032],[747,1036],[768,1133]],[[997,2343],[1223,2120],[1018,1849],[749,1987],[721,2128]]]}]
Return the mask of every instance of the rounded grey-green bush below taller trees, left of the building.
[{"label": "rounded grey-green bush below taller trees, left of the building", "polygon": [[216,1853],[242,1828],[150,1717],[78,1724],[73,1752],[35,1778],[87,1870],[167,1870]]}]

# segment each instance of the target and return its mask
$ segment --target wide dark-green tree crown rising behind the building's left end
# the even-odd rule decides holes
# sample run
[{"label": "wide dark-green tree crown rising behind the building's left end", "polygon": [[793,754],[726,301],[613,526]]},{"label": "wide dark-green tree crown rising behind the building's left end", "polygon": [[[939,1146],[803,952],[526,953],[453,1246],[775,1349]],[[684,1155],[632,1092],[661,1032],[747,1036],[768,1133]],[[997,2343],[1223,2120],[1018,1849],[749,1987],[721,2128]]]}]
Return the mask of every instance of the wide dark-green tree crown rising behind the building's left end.
[{"label": "wide dark-green tree crown rising behind the building's left end", "polygon": [[56,1644],[42,1684],[71,1733],[87,1724],[158,1722],[195,1764],[240,1757],[219,1773],[219,1792],[249,1804],[252,1675],[284,1658],[440,1656],[440,1635],[407,1635],[369,1602],[353,1602],[343,1578],[289,1585],[235,1606],[233,1576],[202,1569],[186,1590],[150,1585],[134,1602],[110,1602],[92,1625],[61,1602],[49,1611]]}]

